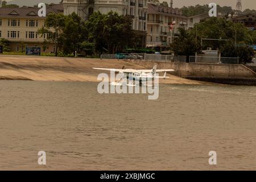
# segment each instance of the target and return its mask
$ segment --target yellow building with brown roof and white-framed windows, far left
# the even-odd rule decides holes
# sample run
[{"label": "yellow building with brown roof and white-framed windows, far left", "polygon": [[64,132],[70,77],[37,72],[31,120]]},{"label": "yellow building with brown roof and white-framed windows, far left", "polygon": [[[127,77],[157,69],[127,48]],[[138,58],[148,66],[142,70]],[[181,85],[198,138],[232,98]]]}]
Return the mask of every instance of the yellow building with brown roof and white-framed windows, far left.
[{"label": "yellow building with brown roof and white-framed windows, far left", "polygon": [[[38,29],[45,26],[46,17],[38,16],[38,8],[0,8],[0,38],[10,41],[11,51],[25,51],[26,46],[41,47],[47,35],[42,37]],[[48,13],[59,13],[61,9],[47,9]],[[50,44],[45,52],[54,52]]]}]

